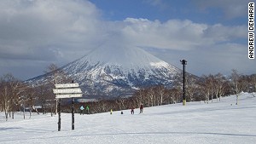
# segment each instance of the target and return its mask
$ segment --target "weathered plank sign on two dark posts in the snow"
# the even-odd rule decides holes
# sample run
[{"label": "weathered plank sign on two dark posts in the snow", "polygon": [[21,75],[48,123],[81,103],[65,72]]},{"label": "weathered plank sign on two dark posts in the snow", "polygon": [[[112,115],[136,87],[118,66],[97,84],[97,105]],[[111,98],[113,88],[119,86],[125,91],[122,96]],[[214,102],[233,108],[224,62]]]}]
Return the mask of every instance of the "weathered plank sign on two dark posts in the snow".
[{"label": "weathered plank sign on two dark posts in the snow", "polygon": [[56,99],[58,101],[58,113],[59,113],[59,122],[58,122],[58,131],[61,131],[61,99],[72,98],[72,130],[74,130],[74,97],[82,97],[83,92],[79,88],[79,84],[55,84],[55,89],[53,89]]}]

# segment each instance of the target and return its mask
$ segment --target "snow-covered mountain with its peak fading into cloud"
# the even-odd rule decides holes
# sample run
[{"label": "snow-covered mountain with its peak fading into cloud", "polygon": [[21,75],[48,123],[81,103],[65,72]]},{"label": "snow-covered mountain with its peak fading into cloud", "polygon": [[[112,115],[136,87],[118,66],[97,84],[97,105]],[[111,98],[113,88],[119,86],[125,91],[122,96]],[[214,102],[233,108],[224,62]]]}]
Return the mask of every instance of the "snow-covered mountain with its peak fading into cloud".
[{"label": "snow-covered mountain with its peak fading into cloud", "polygon": [[[61,70],[80,84],[85,95],[129,95],[135,89],[165,84],[172,86],[181,70],[140,48],[99,47]],[[29,81],[42,81],[44,76]]]}]

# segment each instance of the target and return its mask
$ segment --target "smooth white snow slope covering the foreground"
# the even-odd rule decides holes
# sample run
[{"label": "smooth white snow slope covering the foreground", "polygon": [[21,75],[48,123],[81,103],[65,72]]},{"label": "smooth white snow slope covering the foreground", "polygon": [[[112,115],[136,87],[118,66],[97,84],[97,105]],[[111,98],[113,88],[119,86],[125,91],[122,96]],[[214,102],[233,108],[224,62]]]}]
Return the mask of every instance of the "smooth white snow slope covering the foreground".
[{"label": "smooth white snow slope covering the foreground", "polygon": [[[254,94],[256,95],[256,94]],[[109,112],[75,114],[75,130],[71,130],[71,114],[61,113],[61,131],[57,131],[57,115],[37,115],[5,121],[0,113],[0,143],[14,144],[253,144],[256,141],[256,97],[243,93],[236,105],[236,95],[209,104],[189,102],[160,107],[146,107],[143,114]],[[28,114],[28,113],[27,113]]]}]

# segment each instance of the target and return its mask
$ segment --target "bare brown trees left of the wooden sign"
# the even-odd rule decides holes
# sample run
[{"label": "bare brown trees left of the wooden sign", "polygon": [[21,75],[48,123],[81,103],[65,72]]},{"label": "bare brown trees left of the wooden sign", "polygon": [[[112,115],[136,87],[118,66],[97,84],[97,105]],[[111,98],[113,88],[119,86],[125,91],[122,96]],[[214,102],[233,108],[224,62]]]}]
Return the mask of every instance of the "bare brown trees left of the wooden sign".
[{"label": "bare brown trees left of the wooden sign", "polygon": [[54,84],[63,84],[71,81],[67,74],[58,69],[55,64],[47,67],[45,73],[52,74],[41,84],[27,84],[11,73],[3,74],[0,78],[0,112],[5,113],[5,118],[14,118],[15,112],[40,112],[56,113],[55,95],[52,92]]}]

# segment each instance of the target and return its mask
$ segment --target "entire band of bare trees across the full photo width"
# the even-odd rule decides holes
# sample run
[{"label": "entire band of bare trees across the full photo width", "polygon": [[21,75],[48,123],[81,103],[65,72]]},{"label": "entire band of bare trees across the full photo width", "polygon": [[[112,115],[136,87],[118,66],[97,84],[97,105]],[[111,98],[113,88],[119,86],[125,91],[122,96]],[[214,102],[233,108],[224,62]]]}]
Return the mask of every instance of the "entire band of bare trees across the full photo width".
[{"label": "entire band of bare trees across the full photo width", "polygon": [[[14,118],[14,112],[36,112],[35,106],[41,106],[40,112],[56,113],[55,95],[52,92],[54,84],[69,83],[71,78],[61,72],[54,64],[48,67],[53,78],[46,78],[44,84],[26,84],[12,74],[4,74],[0,78],[0,111],[5,113],[6,120]],[[117,97],[114,100],[97,100],[87,103],[76,103],[75,112],[81,105],[90,107],[90,113],[125,110],[131,107],[154,107],[182,101],[182,73],[175,78],[172,87],[156,85],[138,89],[130,97]],[[221,101],[224,95],[236,95],[256,91],[256,74],[243,75],[233,70],[230,76],[221,73],[203,75],[201,78],[186,74],[186,101]],[[255,95],[254,95],[255,96]],[[70,112],[69,105],[63,105],[62,112]]]}]

